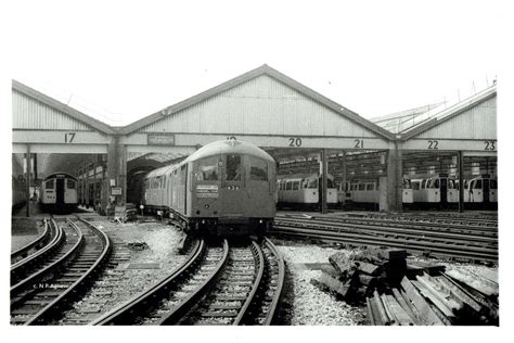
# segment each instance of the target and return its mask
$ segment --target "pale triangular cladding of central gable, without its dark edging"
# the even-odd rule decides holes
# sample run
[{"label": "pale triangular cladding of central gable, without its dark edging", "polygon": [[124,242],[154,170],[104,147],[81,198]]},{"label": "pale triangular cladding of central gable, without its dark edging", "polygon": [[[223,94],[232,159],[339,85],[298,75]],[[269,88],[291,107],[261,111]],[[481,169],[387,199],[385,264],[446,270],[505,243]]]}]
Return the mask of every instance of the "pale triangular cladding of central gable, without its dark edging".
[{"label": "pale triangular cladding of central gable, without its dark edging", "polygon": [[295,89],[261,75],[170,114],[140,132],[376,137]]}]

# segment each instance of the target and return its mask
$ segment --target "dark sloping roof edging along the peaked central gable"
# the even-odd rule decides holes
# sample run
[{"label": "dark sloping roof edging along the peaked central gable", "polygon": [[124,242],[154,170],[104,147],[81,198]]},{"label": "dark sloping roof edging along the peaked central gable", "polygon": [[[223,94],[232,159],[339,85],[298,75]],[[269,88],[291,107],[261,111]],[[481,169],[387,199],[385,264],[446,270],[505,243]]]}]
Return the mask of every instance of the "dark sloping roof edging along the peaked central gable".
[{"label": "dark sloping roof edging along the peaked central gable", "polygon": [[171,106],[168,106],[157,113],[154,113],[147,117],[144,117],[140,120],[137,120],[130,125],[127,125],[126,127],[120,129],[120,134],[128,135],[131,134],[138,129],[141,129],[150,124],[153,124],[159,119],[163,119],[169,115],[172,115],[175,113],[178,113],[179,111],[182,111],[184,109],[188,109],[194,104],[197,104],[204,100],[207,100],[211,97],[215,97],[226,90],[232,89],[241,84],[244,84],[250,79],[254,79],[256,77],[259,77],[261,75],[267,75],[293,89],[298,91],[299,93],[312,99],[313,101],[331,109],[332,111],[336,112],[337,114],[342,115],[343,117],[350,119],[360,126],[373,131],[374,134],[377,134],[378,136],[382,136],[383,138],[386,139],[394,139],[394,136],[383,129],[382,127],[364,119],[363,117],[359,116],[357,113],[342,106],[340,104],[330,100],[329,98],[316,92],[314,90],[301,85],[300,82],[292,79],[291,77],[273,69],[272,67],[268,66],[267,64],[264,64],[262,66],[255,68],[253,71],[249,71],[243,75],[240,75],[233,79],[230,79],[221,85],[218,85],[214,88],[210,88],[200,94],[196,94],[194,97],[191,97],[187,100],[183,100],[177,104],[174,104]]}]

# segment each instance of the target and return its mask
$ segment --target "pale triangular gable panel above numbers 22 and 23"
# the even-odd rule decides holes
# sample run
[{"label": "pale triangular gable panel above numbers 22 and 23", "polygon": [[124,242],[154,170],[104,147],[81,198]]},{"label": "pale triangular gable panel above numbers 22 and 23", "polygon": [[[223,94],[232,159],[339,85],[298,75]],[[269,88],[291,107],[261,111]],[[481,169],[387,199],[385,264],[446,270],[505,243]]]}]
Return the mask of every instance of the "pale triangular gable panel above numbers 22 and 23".
[{"label": "pale triangular gable panel above numbers 22 and 23", "polygon": [[497,97],[442,122],[416,138],[497,139]]}]

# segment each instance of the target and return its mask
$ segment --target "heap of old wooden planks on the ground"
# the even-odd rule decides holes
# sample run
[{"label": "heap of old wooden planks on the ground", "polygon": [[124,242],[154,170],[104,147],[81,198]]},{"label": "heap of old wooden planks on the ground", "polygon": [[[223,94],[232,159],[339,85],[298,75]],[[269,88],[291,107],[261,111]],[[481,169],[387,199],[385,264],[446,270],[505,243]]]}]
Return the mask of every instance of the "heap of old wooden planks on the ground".
[{"label": "heap of old wooden planks on the ground", "polygon": [[330,256],[311,283],[368,307],[371,325],[498,325],[498,277],[407,258],[403,250],[368,249]]}]

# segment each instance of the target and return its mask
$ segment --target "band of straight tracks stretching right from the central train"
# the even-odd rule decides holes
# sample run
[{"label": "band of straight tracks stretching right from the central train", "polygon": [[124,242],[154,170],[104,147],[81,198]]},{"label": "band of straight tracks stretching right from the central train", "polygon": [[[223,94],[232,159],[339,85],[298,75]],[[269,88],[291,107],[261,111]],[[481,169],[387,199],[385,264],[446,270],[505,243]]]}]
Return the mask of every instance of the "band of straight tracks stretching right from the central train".
[{"label": "band of straight tracks stretching right from the central train", "polygon": [[[454,229],[454,228],[453,228]],[[438,257],[498,262],[498,233],[481,230],[444,229],[438,226],[365,221],[346,218],[286,218],[278,216],[270,231],[280,234],[310,237],[354,245],[406,249],[412,253]]]}]

